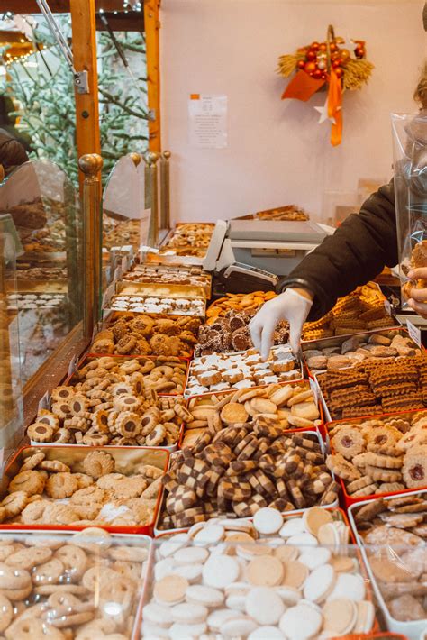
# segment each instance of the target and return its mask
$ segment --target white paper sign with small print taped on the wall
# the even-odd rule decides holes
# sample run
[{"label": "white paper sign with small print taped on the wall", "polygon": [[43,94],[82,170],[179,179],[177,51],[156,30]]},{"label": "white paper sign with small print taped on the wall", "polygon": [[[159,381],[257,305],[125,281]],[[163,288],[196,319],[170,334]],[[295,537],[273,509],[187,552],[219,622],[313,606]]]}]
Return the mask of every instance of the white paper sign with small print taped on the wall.
[{"label": "white paper sign with small print taped on the wall", "polygon": [[191,94],[188,126],[191,147],[224,149],[227,146],[227,96]]}]

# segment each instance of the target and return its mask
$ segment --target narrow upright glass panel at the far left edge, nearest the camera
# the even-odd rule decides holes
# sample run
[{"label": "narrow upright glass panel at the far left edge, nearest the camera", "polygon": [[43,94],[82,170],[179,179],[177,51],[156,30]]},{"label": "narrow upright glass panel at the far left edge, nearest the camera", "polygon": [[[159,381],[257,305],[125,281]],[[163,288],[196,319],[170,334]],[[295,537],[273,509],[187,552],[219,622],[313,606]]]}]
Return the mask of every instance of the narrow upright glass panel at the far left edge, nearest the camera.
[{"label": "narrow upright glass panel at the far left edge, nearest the camera", "polygon": [[21,251],[11,216],[0,214],[0,447],[12,446],[23,424],[16,306],[16,255]]}]

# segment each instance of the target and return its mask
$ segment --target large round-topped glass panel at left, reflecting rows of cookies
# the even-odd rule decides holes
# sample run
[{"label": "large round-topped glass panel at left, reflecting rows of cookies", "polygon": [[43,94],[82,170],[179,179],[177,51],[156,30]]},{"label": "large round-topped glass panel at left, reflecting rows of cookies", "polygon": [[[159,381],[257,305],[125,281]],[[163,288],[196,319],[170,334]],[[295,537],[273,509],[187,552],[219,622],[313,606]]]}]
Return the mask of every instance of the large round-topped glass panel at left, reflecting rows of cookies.
[{"label": "large round-topped glass panel at left, reflecting rows of cookies", "polygon": [[82,317],[77,192],[50,160],[26,162],[0,186],[0,214],[5,213],[23,243],[16,306],[27,382]]}]

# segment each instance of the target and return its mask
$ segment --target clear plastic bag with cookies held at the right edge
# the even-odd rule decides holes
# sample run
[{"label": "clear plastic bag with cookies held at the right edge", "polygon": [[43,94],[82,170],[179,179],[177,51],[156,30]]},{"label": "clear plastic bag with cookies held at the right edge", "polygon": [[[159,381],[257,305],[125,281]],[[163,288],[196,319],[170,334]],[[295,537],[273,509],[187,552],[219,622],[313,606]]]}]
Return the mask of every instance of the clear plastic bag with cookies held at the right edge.
[{"label": "clear plastic bag with cookies held at the right edge", "polygon": [[427,279],[407,277],[427,268],[427,112],[392,114],[392,127],[402,308],[408,308],[411,289],[427,288]]}]

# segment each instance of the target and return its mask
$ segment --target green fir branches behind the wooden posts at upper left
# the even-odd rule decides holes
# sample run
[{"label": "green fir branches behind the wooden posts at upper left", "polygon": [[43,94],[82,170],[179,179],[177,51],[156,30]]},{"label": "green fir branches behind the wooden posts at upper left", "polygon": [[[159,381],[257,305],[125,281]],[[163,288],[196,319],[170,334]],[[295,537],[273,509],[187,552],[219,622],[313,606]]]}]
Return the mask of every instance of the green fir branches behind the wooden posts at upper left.
[{"label": "green fir branches behind the wooden posts at upper left", "polygon": [[[62,32],[69,37],[69,16],[60,16]],[[140,153],[148,146],[147,80],[145,39],[141,33],[115,33],[131,69],[125,69],[108,33],[98,34],[98,86],[100,102],[103,181],[116,160],[130,151]],[[55,64],[46,49],[27,60],[7,67],[8,78],[0,95],[13,96],[22,105],[16,115],[32,138],[32,157],[47,158],[64,169],[77,184],[77,149],[74,86],[71,71],[46,26],[33,30],[34,41],[55,50]],[[5,56],[5,50],[0,50]]]}]

